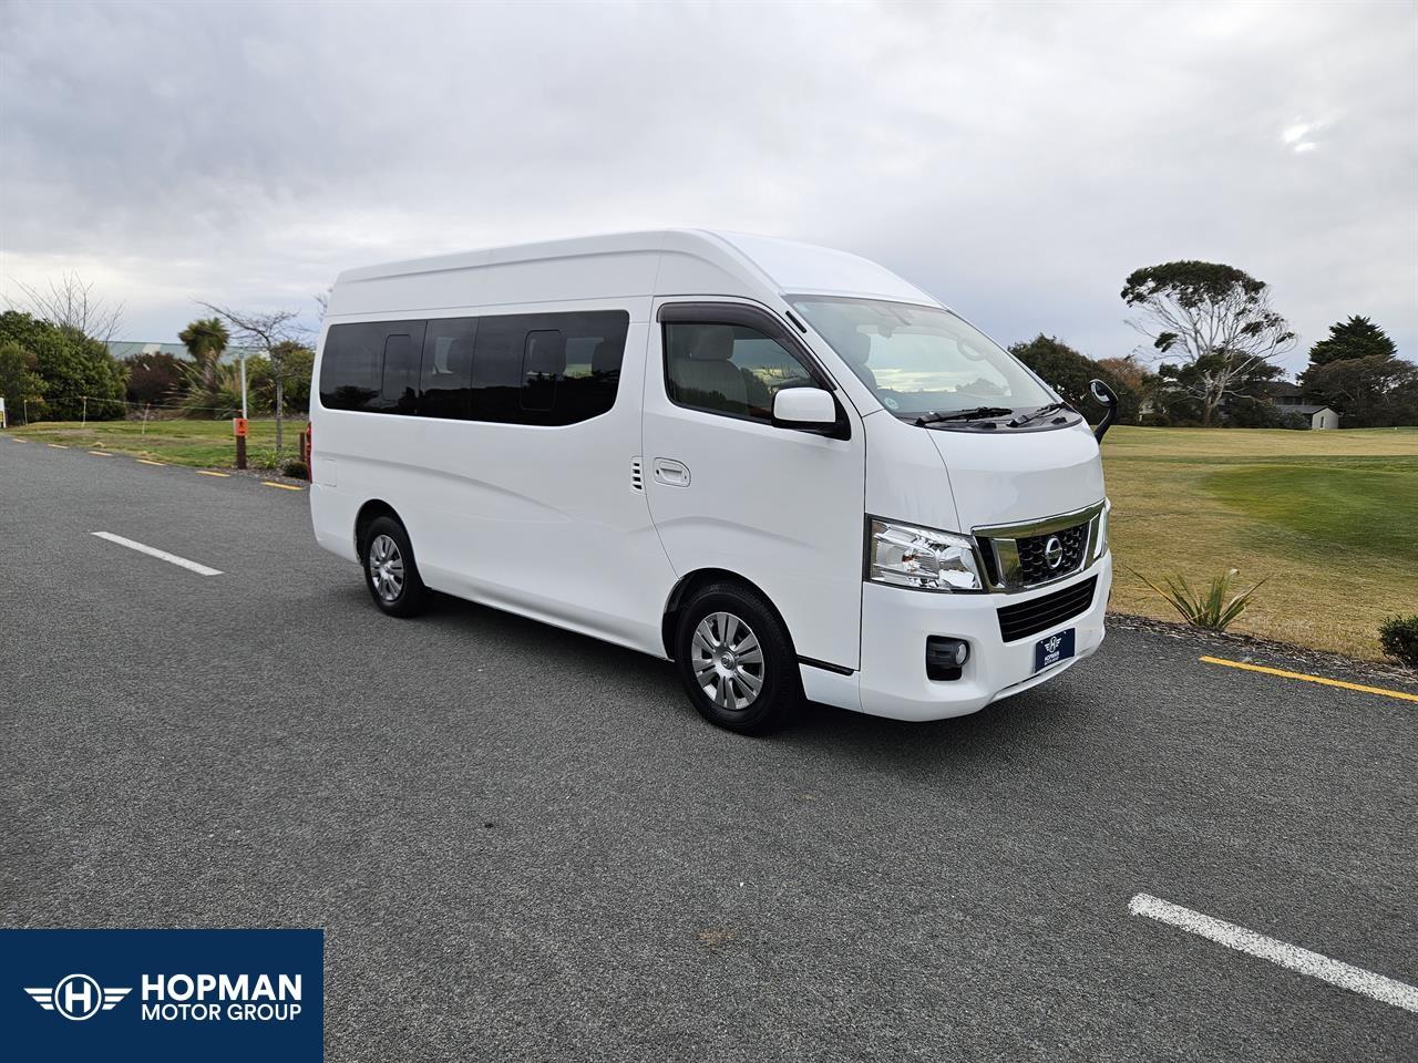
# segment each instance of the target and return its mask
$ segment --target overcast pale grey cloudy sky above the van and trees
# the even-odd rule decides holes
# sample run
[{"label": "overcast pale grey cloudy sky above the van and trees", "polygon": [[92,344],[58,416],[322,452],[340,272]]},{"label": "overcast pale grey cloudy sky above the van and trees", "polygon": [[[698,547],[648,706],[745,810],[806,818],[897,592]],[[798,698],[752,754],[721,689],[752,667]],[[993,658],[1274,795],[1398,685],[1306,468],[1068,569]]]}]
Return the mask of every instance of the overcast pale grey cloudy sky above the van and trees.
[{"label": "overcast pale grey cloudy sky above the van and trees", "polygon": [[343,268],[703,225],[875,258],[1011,343],[1229,262],[1418,357],[1418,4],[0,1],[0,295],[173,340]]}]

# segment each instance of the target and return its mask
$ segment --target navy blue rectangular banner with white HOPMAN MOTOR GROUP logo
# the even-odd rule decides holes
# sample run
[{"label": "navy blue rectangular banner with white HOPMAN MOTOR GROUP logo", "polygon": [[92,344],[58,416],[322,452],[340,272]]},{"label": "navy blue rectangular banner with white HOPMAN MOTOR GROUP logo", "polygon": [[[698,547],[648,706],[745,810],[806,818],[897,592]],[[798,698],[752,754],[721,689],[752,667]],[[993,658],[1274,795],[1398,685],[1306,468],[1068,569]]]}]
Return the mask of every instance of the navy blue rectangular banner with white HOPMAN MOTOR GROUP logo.
[{"label": "navy blue rectangular banner with white HOPMAN MOTOR GROUP logo", "polygon": [[323,930],[0,930],[14,1060],[325,1054]]}]

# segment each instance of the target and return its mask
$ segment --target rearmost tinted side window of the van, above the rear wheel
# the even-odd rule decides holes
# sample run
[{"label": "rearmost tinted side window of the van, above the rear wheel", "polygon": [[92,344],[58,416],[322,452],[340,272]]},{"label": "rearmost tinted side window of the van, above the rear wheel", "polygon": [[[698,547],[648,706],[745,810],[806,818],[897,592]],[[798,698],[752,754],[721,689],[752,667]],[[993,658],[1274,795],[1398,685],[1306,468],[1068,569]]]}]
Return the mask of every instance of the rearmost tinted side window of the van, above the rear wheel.
[{"label": "rearmost tinted side window of the van, above the rear wheel", "polygon": [[320,404],[329,410],[414,412],[423,334],[423,322],[330,326],[320,359]]}]

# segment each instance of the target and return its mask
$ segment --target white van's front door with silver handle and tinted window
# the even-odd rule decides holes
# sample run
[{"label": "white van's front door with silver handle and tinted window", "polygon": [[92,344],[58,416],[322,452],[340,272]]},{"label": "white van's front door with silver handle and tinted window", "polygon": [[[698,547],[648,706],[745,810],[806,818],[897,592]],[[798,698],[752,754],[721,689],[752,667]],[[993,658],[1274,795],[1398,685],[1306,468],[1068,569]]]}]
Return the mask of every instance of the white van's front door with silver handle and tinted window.
[{"label": "white van's front door with silver handle and tinted window", "polygon": [[777,607],[800,658],[858,668],[865,438],[837,391],[831,438],[773,425],[787,387],[835,388],[786,322],[749,303],[657,303],[644,476],[678,575],[735,573]]}]

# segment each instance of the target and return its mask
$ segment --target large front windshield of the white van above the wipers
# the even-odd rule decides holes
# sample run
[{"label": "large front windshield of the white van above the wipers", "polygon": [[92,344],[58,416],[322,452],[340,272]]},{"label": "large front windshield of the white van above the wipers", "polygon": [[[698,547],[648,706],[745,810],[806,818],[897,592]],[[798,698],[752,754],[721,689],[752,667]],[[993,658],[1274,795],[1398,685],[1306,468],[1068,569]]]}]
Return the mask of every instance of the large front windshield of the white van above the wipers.
[{"label": "large front windshield of the white van above the wipers", "polygon": [[1012,354],[949,310],[832,296],[788,302],[898,417],[1008,414],[1058,401]]}]

